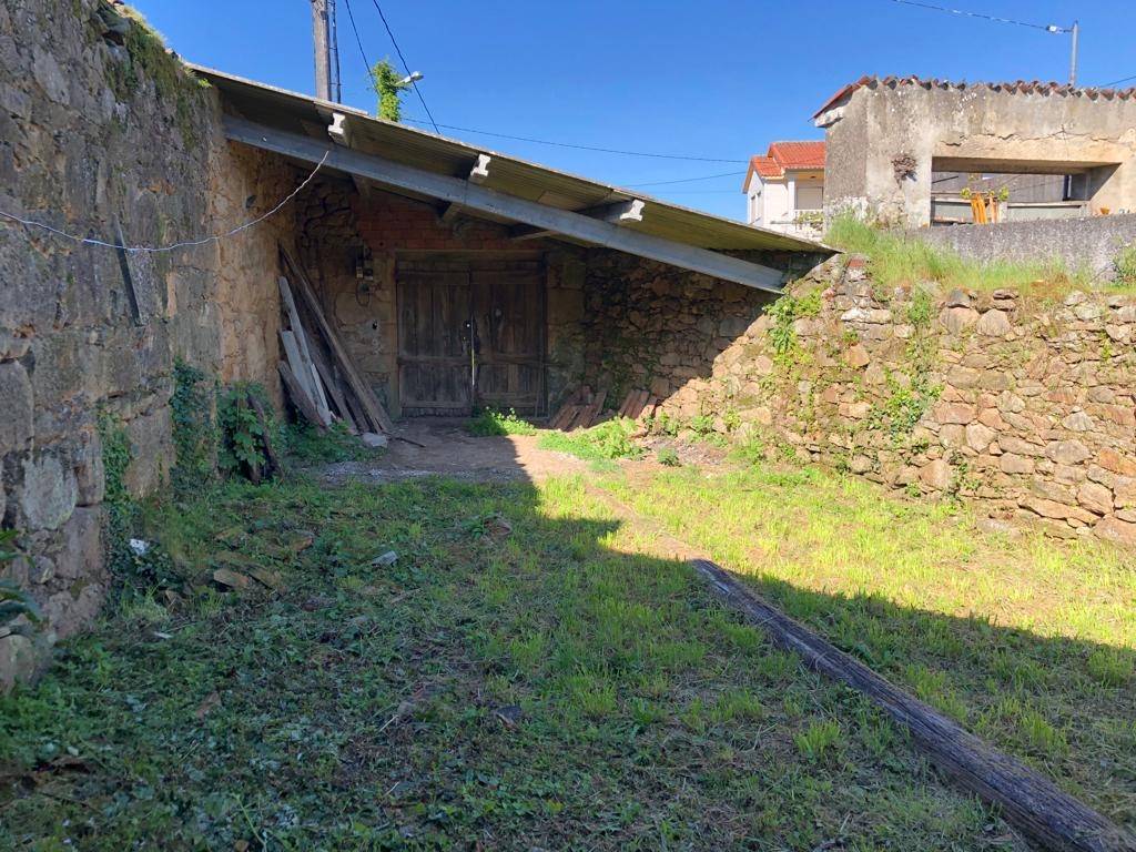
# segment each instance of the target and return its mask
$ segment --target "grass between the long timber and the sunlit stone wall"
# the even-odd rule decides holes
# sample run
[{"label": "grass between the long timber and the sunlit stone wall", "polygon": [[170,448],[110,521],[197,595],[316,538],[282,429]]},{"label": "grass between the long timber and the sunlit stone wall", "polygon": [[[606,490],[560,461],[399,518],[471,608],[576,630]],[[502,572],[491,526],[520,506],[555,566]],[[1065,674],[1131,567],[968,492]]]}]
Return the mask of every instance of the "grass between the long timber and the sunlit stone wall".
[{"label": "grass between the long timber and the sunlit stone wall", "polygon": [[816,469],[693,468],[609,493],[894,683],[1136,827],[1136,554],[978,532]]}]

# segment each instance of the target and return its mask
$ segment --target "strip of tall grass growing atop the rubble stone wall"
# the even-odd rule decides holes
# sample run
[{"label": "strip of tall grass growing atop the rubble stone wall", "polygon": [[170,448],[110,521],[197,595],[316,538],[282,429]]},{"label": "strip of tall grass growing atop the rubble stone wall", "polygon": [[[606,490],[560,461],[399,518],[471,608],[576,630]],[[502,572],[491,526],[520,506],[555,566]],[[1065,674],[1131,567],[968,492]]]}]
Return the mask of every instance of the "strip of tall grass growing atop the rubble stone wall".
[{"label": "strip of tall grass growing atop the rubble stone wall", "polygon": [[984,291],[1020,287],[1035,294],[1058,294],[1093,283],[1091,275],[1070,272],[1055,258],[979,264],[951,249],[874,227],[851,215],[833,220],[825,242],[842,251],[866,254],[872,278],[885,287],[933,281],[945,287]]}]

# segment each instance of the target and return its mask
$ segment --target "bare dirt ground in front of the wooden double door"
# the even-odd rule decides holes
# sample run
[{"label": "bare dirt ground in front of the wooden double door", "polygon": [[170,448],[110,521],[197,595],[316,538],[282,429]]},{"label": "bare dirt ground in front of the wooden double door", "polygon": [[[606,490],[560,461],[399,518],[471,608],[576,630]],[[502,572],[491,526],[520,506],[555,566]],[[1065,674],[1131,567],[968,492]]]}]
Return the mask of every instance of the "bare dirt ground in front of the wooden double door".
[{"label": "bare dirt ground in front of the wooden double door", "polygon": [[349,477],[396,482],[421,476],[448,476],[471,482],[541,482],[579,473],[587,462],[541,450],[538,435],[474,437],[465,419],[416,418],[396,424],[390,448],[378,461],[344,461],[324,470],[339,483]]}]

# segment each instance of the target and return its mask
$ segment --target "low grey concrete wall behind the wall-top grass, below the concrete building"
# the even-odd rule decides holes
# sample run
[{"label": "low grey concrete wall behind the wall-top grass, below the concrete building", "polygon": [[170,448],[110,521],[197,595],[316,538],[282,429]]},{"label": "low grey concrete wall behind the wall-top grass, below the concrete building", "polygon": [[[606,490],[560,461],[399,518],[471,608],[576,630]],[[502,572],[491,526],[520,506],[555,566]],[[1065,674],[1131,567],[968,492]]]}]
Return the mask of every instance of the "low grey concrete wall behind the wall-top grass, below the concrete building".
[{"label": "low grey concrete wall behind the wall-top grass, below the concrete building", "polygon": [[1070,270],[1083,269],[1099,281],[1111,281],[1117,254],[1136,242],[1136,215],[951,225],[920,228],[911,234],[972,260],[1037,262],[1058,258]]}]

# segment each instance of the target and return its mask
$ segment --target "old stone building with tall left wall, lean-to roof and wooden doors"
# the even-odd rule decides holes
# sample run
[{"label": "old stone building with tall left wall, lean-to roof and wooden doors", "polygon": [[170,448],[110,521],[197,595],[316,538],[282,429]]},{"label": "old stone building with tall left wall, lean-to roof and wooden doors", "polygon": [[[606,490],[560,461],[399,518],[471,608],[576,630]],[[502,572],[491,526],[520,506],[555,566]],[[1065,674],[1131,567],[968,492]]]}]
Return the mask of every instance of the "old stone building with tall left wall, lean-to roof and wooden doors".
[{"label": "old stone building with tall left wall, lean-to roof and wooden doors", "polygon": [[395,416],[677,387],[825,253],[191,69],[105,0],[0,3],[0,210],[2,570],[45,615],[0,625],[0,684],[108,590],[100,425],[142,498],[175,462],[177,360],[284,410],[281,248]]}]

